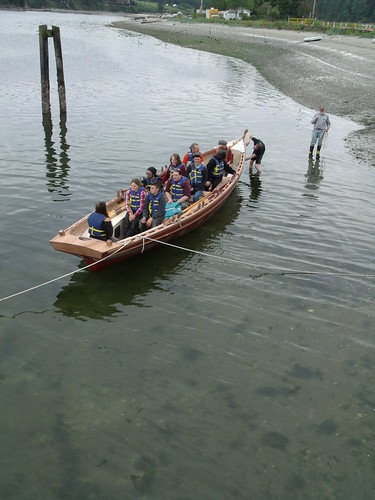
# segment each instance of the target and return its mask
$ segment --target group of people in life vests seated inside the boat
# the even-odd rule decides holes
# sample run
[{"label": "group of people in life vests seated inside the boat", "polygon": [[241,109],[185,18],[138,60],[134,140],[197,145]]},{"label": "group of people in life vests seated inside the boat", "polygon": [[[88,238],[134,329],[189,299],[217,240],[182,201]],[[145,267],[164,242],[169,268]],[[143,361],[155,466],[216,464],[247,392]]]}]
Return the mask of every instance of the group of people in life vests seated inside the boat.
[{"label": "group of people in life vests seated inside the boat", "polygon": [[[219,141],[210,161],[205,165],[199,144],[193,143],[181,161],[174,153],[169,166],[158,174],[149,167],[142,180],[132,179],[129,189],[121,189],[118,196],[125,200],[124,238],[155,227],[166,218],[166,211],[176,212],[198,201],[204,191],[212,191],[220,184],[224,172],[234,174],[229,165],[233,156],[227,142]],[[173,213],[173,212],[172,212]],[[88,218],[89,235],[100,240],[114,240],[111,221],[104,202],[96,204]]]}]

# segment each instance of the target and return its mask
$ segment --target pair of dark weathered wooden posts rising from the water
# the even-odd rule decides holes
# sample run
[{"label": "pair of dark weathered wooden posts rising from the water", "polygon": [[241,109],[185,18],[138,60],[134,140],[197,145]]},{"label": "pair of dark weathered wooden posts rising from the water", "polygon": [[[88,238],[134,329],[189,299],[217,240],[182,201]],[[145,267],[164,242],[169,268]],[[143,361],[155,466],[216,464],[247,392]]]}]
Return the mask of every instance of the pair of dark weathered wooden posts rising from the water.
[{"label": "pair of dark weathered wooden posts rising from the water", "polygon": [[50,84],[49,84],[49,59],[48,59],[48,38],[53,38],[55,47],[57,89],[59,94],[60,114],[66,114],[66,96],[64,82],[64,68],[61,50],[60,28],[52,26],[48,30],[47,26],[39,26],[39,47],[40,47],[40,75],[42,90],[42,112],[48,114],[51,112]]}]

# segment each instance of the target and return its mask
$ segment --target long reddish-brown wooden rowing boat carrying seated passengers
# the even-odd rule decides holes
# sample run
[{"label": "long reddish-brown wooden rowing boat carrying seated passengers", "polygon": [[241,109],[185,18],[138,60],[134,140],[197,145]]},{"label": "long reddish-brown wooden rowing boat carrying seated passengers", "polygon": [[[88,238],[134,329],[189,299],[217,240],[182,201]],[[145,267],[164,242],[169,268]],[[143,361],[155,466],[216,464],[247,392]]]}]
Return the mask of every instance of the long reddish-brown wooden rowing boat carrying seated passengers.
[{"label": "long reddish-brown wooden rowing boat carrying seated passengers", "polygon": [[[88,214],[67,229],[60,230],[50,241],[52,247],[60,252],[83,258],[90,265],[90,269],[98,271],[151,250],[159,246],[159,242],[169,242],[189,233],[212,217],[236,187],[245,162],[246,135],[247,130],[239,139],[228,142],[233,153],[231,166],[235,174],[223,177],[214,191],[205,193],[196,203],[172,218],[164,220],[159,226],[125,239],[121,239],[120,232],[120,240],[117,242],[101,241],[90,238],[88,235],[87,219],[90,215]],[[203,153],[204,162],[207,163],[213,154],[214,149]],[[119,228],[122,231],[126,216],[124,200],[116,197],[107,202],[107,212],[114,230]]]}]

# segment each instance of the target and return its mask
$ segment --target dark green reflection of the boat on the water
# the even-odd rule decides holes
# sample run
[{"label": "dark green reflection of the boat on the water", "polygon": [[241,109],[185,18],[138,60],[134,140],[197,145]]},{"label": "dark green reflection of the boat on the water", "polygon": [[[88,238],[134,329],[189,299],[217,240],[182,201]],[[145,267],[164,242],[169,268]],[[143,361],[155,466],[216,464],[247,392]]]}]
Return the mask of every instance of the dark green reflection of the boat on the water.
[{"label": "dark green reflection of the boat on the water", "polygon": [[[176,245],[194,251],[208,250],[233,223],[239,213],[241,196],[236,187],[223,207],[208,223],[179,238]],[[54,306],[64,316],[86,321],[107,319],[121,312],[121,306],[145,307],[141,299],[168,279],[178,266],[191,258],[191,253],[160,245],[145,256],[134,257],[101,273],[83,271],[72,276],[70,283],[58,293]],[[81,267],[85,263],[82,261]]]}]

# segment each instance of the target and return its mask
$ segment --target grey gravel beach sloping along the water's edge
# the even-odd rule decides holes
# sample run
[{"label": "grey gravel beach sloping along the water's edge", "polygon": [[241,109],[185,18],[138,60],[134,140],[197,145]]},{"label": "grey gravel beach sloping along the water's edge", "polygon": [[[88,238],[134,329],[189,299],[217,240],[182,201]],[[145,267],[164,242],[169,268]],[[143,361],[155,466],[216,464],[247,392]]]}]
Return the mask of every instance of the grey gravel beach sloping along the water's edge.
[{"label": "grey gravel beach sloping along the water's edge", "polygon": [[285,95],[312,109],[352,119],[363,129],[347,139],[355,159],[375,166],[373,39],[303,31],[245,28],[134,16],[112,24],[183,47],[242,59]]}]

